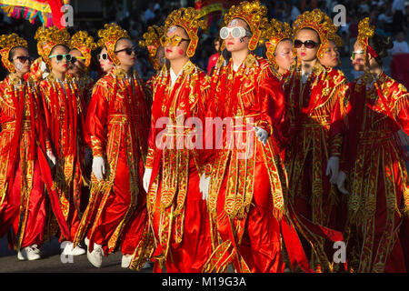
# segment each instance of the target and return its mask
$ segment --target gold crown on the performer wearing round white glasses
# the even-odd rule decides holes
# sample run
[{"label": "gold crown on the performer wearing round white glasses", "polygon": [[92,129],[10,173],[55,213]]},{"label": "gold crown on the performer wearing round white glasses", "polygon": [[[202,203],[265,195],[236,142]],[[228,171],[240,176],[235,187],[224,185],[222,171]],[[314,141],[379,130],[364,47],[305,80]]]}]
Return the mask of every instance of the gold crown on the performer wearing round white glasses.
[{"label": "gold crown on the performer wearing round white glasses", "polygon": [[228,13],[224,15],[224,23],[228,25],[234,18],[243,19],[252,31],[252,38],[248,44],[248,49],[254,51],[260,42],[264,42],[266,30],[269,27],[267,7],[261,5],[258,0],[249,3],[244,1],[240,5],[233,5]]}]

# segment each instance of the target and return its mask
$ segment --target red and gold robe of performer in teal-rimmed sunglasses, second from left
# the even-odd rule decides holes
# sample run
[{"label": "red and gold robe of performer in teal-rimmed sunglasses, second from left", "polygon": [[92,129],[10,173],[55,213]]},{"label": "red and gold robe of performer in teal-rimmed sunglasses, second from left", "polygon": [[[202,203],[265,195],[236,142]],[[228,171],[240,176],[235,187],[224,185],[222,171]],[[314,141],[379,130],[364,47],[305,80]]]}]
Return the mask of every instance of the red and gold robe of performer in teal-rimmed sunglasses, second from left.
[{"label": "red and gold robe of performer in teal-rimmed sunglasses, second from left", "polygon": [[56,156],[54,182],[72,240],[80,222],[81,187],[84,162],[84,108],[72,77],[59,82],[50,74],[38,85],[50,132],[51,147]]}]

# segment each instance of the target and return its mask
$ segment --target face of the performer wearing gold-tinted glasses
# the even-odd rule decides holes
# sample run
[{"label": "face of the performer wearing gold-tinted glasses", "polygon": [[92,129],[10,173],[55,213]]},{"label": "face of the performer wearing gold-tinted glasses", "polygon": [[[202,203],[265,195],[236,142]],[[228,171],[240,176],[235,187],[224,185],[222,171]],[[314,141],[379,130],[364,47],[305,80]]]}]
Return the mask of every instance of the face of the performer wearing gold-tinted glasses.
[{"label": "face of the performer wearing gold-tinted glasses", "polygon": [[166,33],[168,39],[180,38],[180,43],[165,45],[165,57],[169,61],[175,61],[180,58],[186,57],[187,47],[189,46],[189,35],[185,32],[185,29],[180,26],[172,26]]}]

